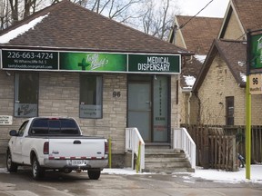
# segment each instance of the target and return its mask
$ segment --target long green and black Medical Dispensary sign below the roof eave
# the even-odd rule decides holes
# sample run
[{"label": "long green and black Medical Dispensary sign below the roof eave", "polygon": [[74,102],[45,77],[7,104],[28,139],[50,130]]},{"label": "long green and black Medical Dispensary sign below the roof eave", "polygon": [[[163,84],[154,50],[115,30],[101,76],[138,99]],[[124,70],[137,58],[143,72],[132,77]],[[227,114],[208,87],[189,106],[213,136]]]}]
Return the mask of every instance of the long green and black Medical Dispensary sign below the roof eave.
[{"label": "long green and black Medical Dispensary sign below the roof eave", "polygon": [[106,54],[2,49],[2,67],[11,70],[48,70],[113,73],[180,73],[176,54]]}]

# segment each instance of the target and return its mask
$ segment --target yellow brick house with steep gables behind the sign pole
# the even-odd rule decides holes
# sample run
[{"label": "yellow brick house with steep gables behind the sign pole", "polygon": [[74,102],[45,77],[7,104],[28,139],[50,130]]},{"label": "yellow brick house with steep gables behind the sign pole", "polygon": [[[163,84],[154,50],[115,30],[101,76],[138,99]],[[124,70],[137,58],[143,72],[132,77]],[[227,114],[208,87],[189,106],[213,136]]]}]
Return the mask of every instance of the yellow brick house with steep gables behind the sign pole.
[{"label": "yellow brick house with steep gables behind the sign pole", "polygon": [[[262,27],[262,2],[231,0],[196,83],[191,103],[204,124],[246,124],[247,29]],[[252,125],[261,125],[262,95],[252,95]]]}]

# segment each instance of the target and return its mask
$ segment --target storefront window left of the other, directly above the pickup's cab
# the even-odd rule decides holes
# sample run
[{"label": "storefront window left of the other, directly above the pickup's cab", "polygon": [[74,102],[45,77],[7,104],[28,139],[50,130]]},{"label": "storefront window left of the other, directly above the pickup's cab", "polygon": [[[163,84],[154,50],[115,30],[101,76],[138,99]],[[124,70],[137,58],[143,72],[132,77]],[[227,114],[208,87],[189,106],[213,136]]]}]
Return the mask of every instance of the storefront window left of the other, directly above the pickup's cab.
[{"label": "storefront window left of the other, directly above the pickup's cab", "polygon": [[38,73],[15,73],[15,116],[38,113]]}]

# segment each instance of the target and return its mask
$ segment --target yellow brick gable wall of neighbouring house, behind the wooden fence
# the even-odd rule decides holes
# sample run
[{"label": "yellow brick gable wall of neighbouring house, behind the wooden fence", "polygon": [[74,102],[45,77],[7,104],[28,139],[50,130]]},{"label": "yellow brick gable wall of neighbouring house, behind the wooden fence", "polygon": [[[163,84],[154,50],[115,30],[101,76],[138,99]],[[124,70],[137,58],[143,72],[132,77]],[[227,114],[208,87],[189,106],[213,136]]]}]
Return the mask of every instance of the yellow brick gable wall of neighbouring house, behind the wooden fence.
[{"label": "yellow brick gable wall of neighbouring house, behind the wooden fence", "polygon": [[[211,64],[198,96],[201,100],[201,123],[226,124],[226,97],[234,96],[234,123],[246,124],[246,88],[240,88],[219,55]],[[222,104],[219,104],[222,103]],[[262,123],[262,95],[252,95],[252,125]]]}]

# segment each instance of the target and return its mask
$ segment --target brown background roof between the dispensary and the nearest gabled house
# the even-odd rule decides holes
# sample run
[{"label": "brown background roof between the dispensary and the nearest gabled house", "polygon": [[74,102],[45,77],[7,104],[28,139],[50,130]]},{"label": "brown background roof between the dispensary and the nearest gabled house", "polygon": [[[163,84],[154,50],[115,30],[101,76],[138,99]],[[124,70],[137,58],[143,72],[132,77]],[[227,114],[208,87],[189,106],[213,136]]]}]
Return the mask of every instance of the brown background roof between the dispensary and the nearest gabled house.
[{"label": "brown background roof between the dispensary and the nearest gabled house", "polygon": [[[181,31],[187,50],[195,54],[207,54],[213,39],[217,38],[223,18],[192,17],[176,15],[175,23],[177,23],[178,33]],[[190,22],[186,24],[189,20]],[[174,39],[172,34],[170,37],[171,42]]]}]

